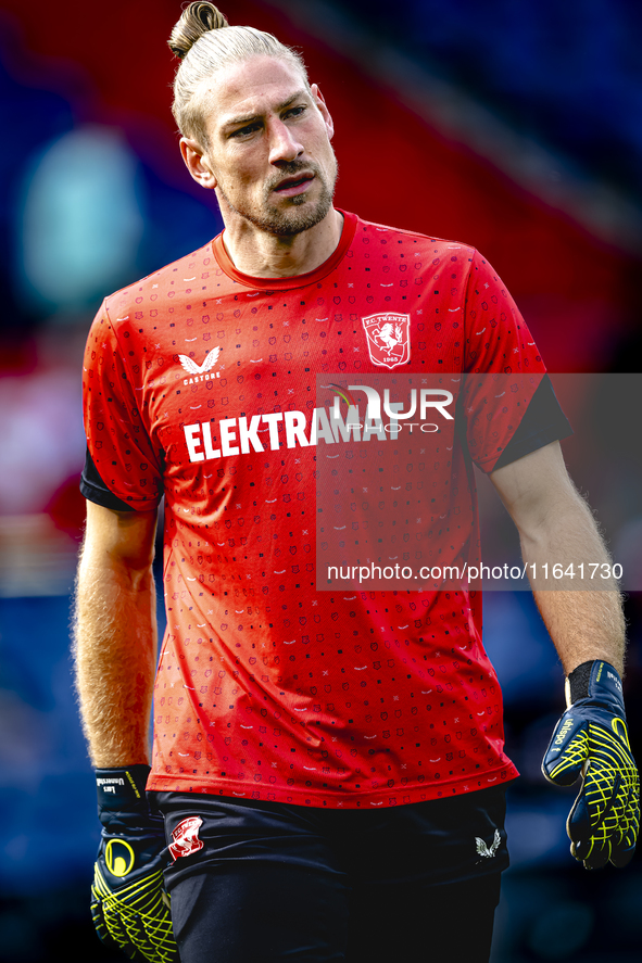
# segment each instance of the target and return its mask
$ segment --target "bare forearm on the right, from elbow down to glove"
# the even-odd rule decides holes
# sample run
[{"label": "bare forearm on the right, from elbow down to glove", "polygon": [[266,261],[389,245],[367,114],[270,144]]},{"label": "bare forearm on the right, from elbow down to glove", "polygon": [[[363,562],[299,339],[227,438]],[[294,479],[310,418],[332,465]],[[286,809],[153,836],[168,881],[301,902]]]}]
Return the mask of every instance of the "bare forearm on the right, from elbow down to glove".
[{"label": "bare forearm on the right, from elbow down to glove", "polygon": [[[534,599],[568,675],[590,659],[605,659],[624,670],[625,619],[614,579],[591,580],[595,562],[610,567],[610,557],[589,507],[575,492],[533,536],[521,533],[521,552],[530,567]],[[583,580],[579,578],[582,571]],[[547,565],[547,568],[544,568]],[[562,579],[551,578],[559,565]],[[609,570],[609,569],[608,569]],[[547,572],[549,578],[543,578]],[[572,578],[570,573],[574,573]],[[592,585],[599,585],[599,590]]]}]

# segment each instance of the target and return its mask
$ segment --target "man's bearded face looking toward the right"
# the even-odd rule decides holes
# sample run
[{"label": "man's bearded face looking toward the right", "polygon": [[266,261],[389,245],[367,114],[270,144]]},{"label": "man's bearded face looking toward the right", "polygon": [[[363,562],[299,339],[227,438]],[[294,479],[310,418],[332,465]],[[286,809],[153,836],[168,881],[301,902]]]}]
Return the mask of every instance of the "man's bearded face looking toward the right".
[{"label": "man's bearded face looking toward the right", "polygon": [[254,58],[214,74],[203,102],[210,140],[203,162],[224,208],[279,237],[324,219],[337,161],[316,86],[307,90],[287,61]]}]

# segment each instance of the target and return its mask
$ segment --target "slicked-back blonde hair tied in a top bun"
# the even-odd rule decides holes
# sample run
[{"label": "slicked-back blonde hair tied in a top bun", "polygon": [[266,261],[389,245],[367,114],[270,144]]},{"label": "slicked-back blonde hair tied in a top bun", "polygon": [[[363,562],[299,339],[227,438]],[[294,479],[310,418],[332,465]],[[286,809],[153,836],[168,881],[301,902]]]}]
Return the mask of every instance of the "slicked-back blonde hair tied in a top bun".
[{"label": "slicked-back blonde hair tied in a top bun", "polygon": [[190,3],[172,30],[168,45],[180,65],[174,78],[172,113],[184,137],[207,148],[204,104],[199,96],[203,80],[216,71],[253,56],[275,56],[288,61],[302,75],[310,89],[302,56],[272,34],[254,27],[230,27],[213,3]]}]

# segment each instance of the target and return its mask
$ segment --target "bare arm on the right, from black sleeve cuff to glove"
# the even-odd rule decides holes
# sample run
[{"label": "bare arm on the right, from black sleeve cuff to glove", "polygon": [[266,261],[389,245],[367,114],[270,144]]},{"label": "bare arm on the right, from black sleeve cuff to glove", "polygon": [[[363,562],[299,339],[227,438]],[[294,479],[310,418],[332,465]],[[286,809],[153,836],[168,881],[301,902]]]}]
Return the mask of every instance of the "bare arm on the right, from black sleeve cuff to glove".
[{"label": "bare arm on the right, from black sleeve cuff to glove", "polygon": [[[621,675],[625,620],[620,594],[613,579],[590,580],[588,568],[591,562],[609,565],[610,557],[591,509],[568,477],[559,443],[538,448],[499,468],[490,478],[517,525],[524,561],[536,563],[537,574],[531,576],[534,599],[566,675],[591,659],[610,662]],[[581,562],[583,581],[577,574]],[[547,580],[543,578],[544,563]],[[576,576],[552,579],[556,563],[563,571],[572,563]],[[595,584],[597,588],[592,590]]]}]

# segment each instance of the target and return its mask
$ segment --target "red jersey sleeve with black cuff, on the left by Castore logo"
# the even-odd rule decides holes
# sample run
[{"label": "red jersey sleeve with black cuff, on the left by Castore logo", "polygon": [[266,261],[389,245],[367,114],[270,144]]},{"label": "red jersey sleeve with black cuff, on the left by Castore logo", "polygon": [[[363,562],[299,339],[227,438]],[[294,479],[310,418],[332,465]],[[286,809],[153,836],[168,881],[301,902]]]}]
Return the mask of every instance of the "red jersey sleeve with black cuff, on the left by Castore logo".
[{"label": "red jersey sleeve with black cuff, on the left by Castore logo", "polygon": [[87,461],[80,491],[105,508],[155,508],[163,490],[162,453],[146,430],[138,385],[105,304],[89,331],[83,375]]}]

